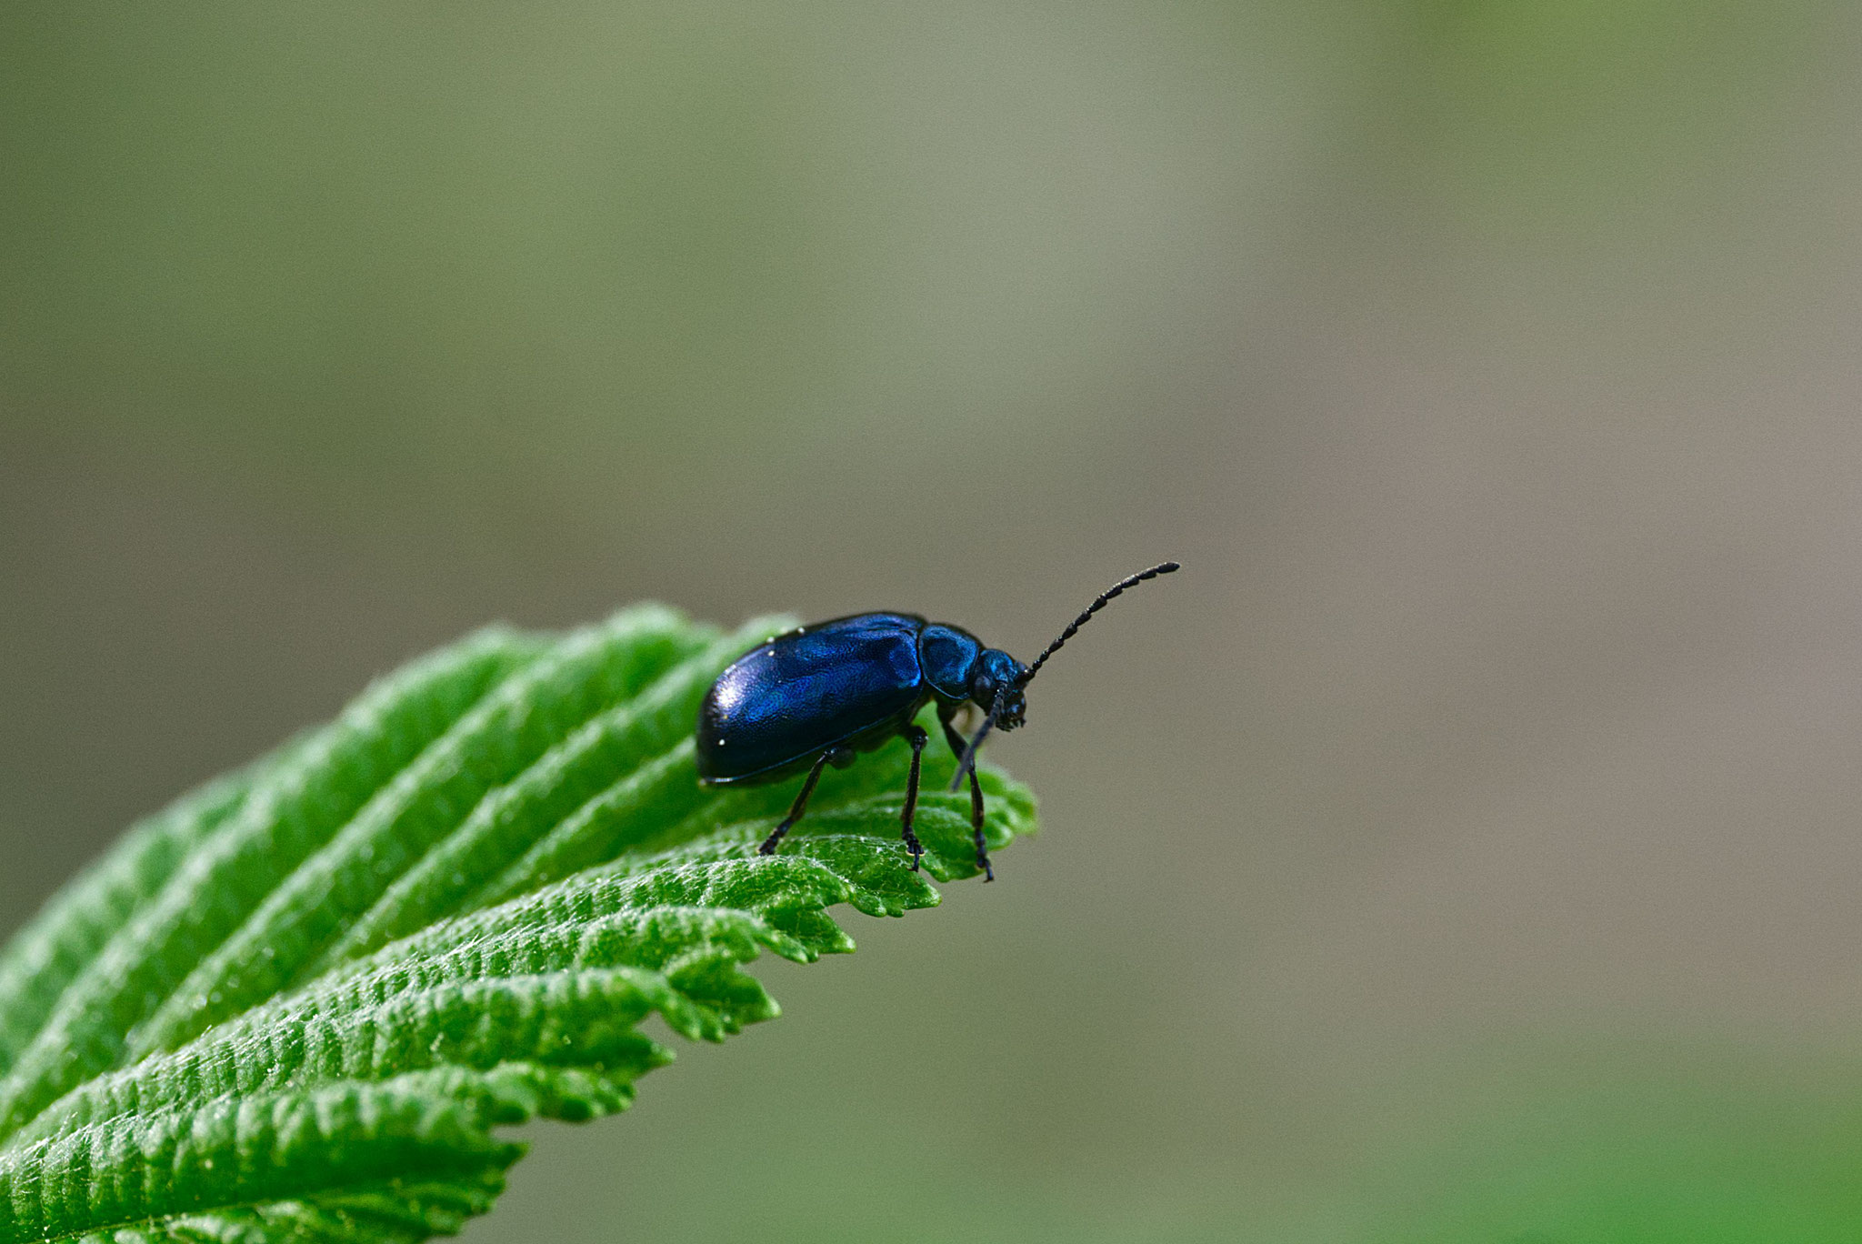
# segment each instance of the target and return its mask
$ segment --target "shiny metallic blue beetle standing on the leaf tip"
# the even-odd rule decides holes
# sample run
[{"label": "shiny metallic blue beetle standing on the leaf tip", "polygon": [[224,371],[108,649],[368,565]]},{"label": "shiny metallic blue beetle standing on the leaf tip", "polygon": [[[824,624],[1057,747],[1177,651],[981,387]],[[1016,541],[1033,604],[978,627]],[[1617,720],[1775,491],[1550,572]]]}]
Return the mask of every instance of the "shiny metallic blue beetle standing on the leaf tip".
[{"label": "shiny metallic blue beetle standing on the leaf tip", "polygon": [[[914,719],[918,710],[937,700],[944,741],[959,758],[950,788],[957,790],[968,775],[976,864],[985,881],[994,881],[983,844],[976,749],[994,726],[1015,730],[1026,721],[1024,687],[1106,602],[1173,570],[1177,562],[1162,562],[1100,592],[1033,665],[1022,665],[1000,648],[985,648],[959,626],[925,622],[916,613],[857,613],[776,635],[719,674],[698,706],[698,780],[706,786],[756,786],[808,771],[789,814],[758,847],[760,855],[771,855],[806,812],[821,769],[845,769],[858,752],[903,736],[912,749],[912,769],[905,780],[899,829],[916,872],[924,845],[912,832],[912,812],[918,806],[918,765],[931,736]],[[965,704],[987,711],[968,741],[953,723]]]}]

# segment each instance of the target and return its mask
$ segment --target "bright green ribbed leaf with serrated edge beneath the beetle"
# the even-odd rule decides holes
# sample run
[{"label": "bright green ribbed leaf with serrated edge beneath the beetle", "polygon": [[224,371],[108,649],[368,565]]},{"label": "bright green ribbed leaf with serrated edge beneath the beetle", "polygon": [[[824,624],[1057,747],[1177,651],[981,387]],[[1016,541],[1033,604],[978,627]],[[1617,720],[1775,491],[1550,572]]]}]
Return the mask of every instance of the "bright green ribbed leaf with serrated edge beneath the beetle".
[{"label": "bright green ribbed leaf with serrated edge beneath the beetle", "polygon": [[[743,968],[853,950],[836,903],[938,901],[899,844],[909,752],[708,791],[704,689],[786,618],[657,605],[486,629],[132,827],[0,955],[0,1244],[423,1240],[486,1212],[497,1129],[624,1110],[672,1058],[776,1015]],[[937,734],[937,732],[933,732]],[[925,758],[925,872],[976,873]],[[1032,832],[985,771],[992,849]]]}]

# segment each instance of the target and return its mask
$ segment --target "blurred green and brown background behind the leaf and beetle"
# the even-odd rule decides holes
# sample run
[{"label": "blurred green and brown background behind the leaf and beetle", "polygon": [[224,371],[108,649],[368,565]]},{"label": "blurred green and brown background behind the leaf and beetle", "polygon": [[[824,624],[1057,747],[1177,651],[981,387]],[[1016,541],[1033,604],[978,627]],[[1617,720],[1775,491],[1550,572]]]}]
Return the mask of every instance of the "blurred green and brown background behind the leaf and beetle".
[{"label": "blurred green and brown background behind the leaf and beetle", "polygon": [[0,924],[492,618],[1032,654],[1046,832],[503,1240],[1862,1238],[1862,9],[0,7]]}]

